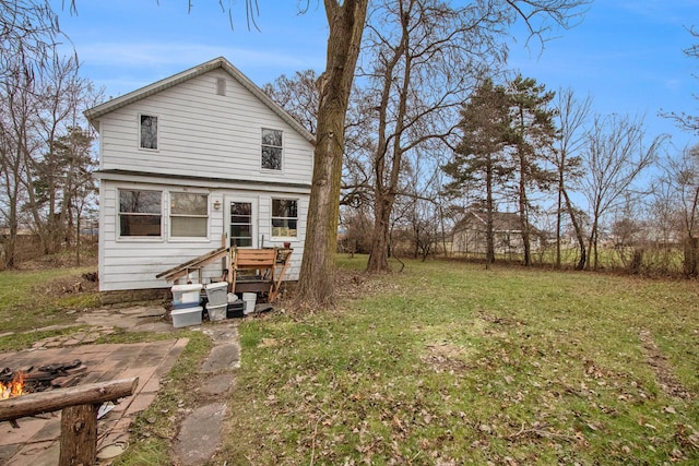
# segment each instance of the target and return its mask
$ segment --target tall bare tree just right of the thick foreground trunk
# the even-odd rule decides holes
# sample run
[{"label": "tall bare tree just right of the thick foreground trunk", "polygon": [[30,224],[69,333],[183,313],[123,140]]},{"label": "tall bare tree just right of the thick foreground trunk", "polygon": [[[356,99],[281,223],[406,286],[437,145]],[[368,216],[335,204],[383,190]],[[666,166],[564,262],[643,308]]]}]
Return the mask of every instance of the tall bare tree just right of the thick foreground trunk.
[{"label": "tall bare tree just right of the thick foreground trunk", "polygon": [[457,108],[481,74],[476,69],[499,57],[495,36],[506,22],[501,10],[479,4],[377,3],[368,24],[370,63],[362,70],[374,89],[377,116],[369,271],[388,270],[390,218],[404,158],[452,136]]}]

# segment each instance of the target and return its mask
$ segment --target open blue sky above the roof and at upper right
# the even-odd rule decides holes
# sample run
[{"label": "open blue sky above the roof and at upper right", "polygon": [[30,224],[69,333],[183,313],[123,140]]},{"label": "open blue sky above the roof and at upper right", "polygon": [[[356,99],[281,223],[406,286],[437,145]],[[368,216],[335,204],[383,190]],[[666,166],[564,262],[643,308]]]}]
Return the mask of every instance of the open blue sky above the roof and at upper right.
[{"label": "open blue sky above the roof and at upper right", "polygon": [[[248,29],[244,0],[234,7],[234,28],[218,0],[76,0],[78,14],[51,0],[61,28],[83,63],[83,75],[119,96],[215,57],[224,56],[258,85],[281,74],[325,63],[322,2],[259,0],[260,32]],[[683,52],[699,27],[697,0],[596,0],[569,31],[554,31],[544,48],[510,44],[510,67],[550,89],[571,87],[594,99],[593,109],[645,117],[650,138],[667,133],[675,146],[699,143],[661,118],[662,109],[699,115],[699,60]]]}]

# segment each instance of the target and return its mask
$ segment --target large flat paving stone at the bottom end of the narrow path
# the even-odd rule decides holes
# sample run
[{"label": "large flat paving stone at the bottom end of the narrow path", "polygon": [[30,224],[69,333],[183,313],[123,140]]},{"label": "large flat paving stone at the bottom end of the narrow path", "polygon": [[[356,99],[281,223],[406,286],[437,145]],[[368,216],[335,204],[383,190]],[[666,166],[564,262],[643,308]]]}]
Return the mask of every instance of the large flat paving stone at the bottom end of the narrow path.
[{"label": "large flat paving stone at the bottom end of the narrow path", "polygon": [[221,442],[225,403],[212,403],[194,409],[182,422],[174,451],[182,466],[211,461]]}]

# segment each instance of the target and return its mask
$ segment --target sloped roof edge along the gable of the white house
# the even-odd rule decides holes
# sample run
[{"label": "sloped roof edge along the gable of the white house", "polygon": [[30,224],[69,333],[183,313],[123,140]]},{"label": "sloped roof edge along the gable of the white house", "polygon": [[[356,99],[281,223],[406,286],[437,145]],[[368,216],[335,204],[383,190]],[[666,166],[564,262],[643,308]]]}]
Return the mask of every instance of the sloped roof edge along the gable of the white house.
[{"label": "sloped roof edge along the gable of the white house", "polygon": [[120,97],[112,98],[105,101],[104,104],[99,104],[93,108],[85,110],[85,117],[92,122],[103,115],[118,110],[122,107],[126,107],[127,105],[133,104],[134,101],[141,100],[143,98],[157,94],[161,91],[174,87],[180,83],[183,83],[197,76],[201,76],[202,74],[216,69],[222,69],[230,74],[234,80],[236,80],[240,85],[242,85],[252,95],[254,95],[262,104],[268,106],[280,118],[282,118],[286,123],[294,128],[304,139],[306,139],[311,144],[316,144],[316,136],[313,134],[307,131],[298,121],[293,119],[280,105],[272,100],[266,94],[262,92],[262,89],[260,89],[260,87],[258,87],[252,81],[250,81],[248,76],[242,74],[237,68],[230,64],[230,62],[223,57],[214,58],[211,61],[190,68],[189,70],[174,74],[169,77],[165,77],[164,80],[157,81],[153,84],[141,87],[140,89],[130,92]]}]

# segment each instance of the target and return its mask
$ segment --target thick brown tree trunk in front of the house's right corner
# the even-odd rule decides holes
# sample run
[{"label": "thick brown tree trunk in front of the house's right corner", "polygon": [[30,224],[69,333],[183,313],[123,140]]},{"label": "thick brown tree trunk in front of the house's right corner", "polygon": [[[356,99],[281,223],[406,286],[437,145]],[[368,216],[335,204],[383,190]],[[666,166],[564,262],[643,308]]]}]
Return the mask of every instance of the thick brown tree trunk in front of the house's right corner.
[{"label": "thick brown tree trunk in front of the house's right corner", "polygon": [[333,297],[344,127],[368,0],[324,0],[330,26],[325,72],[319,79],[317,144],[297,299],[307,307]]}]

